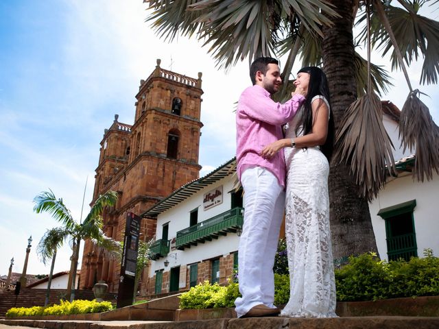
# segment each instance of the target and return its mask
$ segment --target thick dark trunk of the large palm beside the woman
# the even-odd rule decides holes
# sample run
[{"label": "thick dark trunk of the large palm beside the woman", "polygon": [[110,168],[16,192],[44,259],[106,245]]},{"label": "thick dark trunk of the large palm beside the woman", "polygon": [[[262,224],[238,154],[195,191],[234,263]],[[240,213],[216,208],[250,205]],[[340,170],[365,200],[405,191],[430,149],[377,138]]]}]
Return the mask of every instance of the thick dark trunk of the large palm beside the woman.
[{"label": "thick dark trunk of the large palm beside the woman", "polygon": [[[353,46],[353,8],[358,1],[331,1],[341,18],[324,29],[322,55],[331,91],[335,130],[344,111],[357,99]],[[337,147],[337,145],[335,145]],[[335,263],[366,251],[377,252],[368,202],[358,197],[355,178],[345,164],[331,165],[329,197],[331,202],[331,235]]]}]

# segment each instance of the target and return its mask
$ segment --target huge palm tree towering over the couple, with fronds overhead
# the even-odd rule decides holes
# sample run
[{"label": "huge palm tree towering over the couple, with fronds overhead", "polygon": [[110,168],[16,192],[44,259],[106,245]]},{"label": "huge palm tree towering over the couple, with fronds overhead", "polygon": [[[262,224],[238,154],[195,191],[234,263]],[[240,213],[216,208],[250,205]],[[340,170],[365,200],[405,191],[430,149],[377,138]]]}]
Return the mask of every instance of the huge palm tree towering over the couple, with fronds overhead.
[{"label": "huge palm tree towering over the couple, with fronds overhead", "polygon": [[[370,56],[367,60],[361,58],[356,47],[368,45],[370,49],[383,54],[391,51],[392,70],[404,69],[405,64],[410,65],[423,56],[420,81],[423,84],[436,84],[439,73],[439,53],[436,51],[439,47],[439,23],[418,14],[419,8],[427,5],[427,1],[145,2],[149,3],[151,10],[147,21],[152,21],[157,34],[167,40],[173,40],[178,34],[196,36],[209,47],[220,68],[228,68],[244,58],[252,62],[259,56],[283,55],[287,55],[284,77],[289,77],[297,55],[301,56],[302,66],[323,66],[329,80],[338,134],[335,144],[338,157],[335,159],[337,161],[331,163],[329,175],[334,258],[342,262],[351,254],[377,252],[368,200],[375,197],[383,186],[385,165],[392,169],[393,158],[390,141],[380,119],[381,103],[376,101],[375,93],[385,92],[390,81],[388,73],[371,64]],[[395,2],[399,5],[392,5]],[[437,3],[430,2],[431,5]],[[360,32],[356,38],[355,26],[355,31]],[[422,108],[416,95],[416,90],[413,90],[407,102],[414,99],[415,105]],[[365,110],[368,108],[373,111],[369,117],[370,112]],[[358,115],[360,112],[364,113],[366,119]],[[428,111],[424,117],[429,120],[423,123],[427,129],[416,130],[413,128],[416,125],[410,125],[409,130],[414,132],[414,138],[411,142],[405,141],[404,136],[402,139],[404,146],[408,145],[409,148],[416,144],[416,161],[421,158],[418,155],[427,152],[428,156],[423,157],[428,159],[427,162],[417,168],[420,170],[419,177],[423,178],[425,174],[428,179],[431,169],[439,173],[439,147],[434,146],[435,143],[439,144],[439,128],[432,123]],[[361,131],[355,131],[353,127],[359,120],[364,120],[366,124]],[[416,121],[418,118],[411,117],[410,120]],[[378,133],[373,134],[374,131]],[[421,143],[413,141],[418,141],[418,134],[425,131],[430,134],[431,144],[420,149]],[[365,157],[364,154],[371,155]],[[376,161],[372,162],[370,158]]]}]

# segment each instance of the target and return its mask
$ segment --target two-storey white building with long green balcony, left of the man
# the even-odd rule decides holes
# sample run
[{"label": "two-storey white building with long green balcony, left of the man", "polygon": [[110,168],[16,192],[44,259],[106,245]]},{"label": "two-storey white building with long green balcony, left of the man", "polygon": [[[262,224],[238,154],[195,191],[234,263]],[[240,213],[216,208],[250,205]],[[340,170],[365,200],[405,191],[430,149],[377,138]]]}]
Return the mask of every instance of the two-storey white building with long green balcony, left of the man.
[{"label": "two-storey white building with long green balcony, left of the man", "polygon": [[155,260],[148,294],[189,289],[199,282],[226,282],[237,265],[244,217],[235,192],[235,159],[189,182],[142,216],[157,218]]}]

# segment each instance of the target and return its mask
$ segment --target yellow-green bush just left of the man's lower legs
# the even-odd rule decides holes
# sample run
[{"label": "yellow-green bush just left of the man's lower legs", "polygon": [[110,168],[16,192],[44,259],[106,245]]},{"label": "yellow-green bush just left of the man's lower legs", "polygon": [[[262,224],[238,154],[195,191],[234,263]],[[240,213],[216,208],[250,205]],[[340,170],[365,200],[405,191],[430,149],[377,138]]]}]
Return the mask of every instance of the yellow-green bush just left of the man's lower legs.
[{"label": "yellow-green bush just left of the man's lower legs", "polygon": [[228,285],[223,287],[206,280],[180,295],[180,308],[233,307],[233,302],[239,296],[236,282],[229,280]]}]

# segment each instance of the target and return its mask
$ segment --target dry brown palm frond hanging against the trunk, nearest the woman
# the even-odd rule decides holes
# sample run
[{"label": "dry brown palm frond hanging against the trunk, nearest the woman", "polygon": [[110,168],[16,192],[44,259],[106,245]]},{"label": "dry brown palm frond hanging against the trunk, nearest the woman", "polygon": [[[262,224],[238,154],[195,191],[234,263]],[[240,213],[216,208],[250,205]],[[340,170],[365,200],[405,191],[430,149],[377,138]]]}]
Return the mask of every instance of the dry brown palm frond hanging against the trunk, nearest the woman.
[{"label": "dry brown palm frond hanging against the trunk, nearest the woman", "polygon": [[[385,184],[385,171],[396,175],[392,141],[383,125],[381,101],[375,93],[349,106],[335,138],[333,161],[351,163],[362,197],[369,201]],[[387,167],[387,168],[386,168]]]}]

